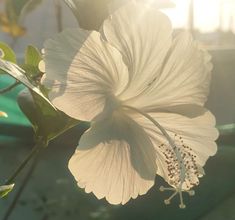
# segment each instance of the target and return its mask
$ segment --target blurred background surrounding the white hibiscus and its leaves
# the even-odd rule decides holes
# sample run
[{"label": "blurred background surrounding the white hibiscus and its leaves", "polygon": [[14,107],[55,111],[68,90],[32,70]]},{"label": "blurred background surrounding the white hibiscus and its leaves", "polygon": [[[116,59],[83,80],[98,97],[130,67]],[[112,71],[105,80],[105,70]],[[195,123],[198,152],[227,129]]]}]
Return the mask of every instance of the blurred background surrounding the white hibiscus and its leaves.
[{"label": "blurred background surrounding the white hibiscus and its leaves", "polygon": [[[61,0],[0,0],[0,41],[8,43],[24,57],[27,45],[43,48],[43,42],[55,33],[79,25],[98,30],[109,10],[128,0],[77,0],[75,17]],[[111,206],[76,187],[67,162],[74,152],[85,126],[76,127],[53,141],[30,176],[28,185],[6,218],[18,186],[0,200],[0,220],[235,220],[235,1],[234,0],[139,0],[166,13],[175,31],[187,29],[212,55],[214,65],[207,107],[215,114],[220,128],[219,150],[209,159],[206,176],[196,195],[186,197],[187,209],[178,209],[178,198],[170,206],[160,193],[164,181],[147,195],[125,206]],[[0,76],[0,89],[13,80]],[[17,105],[16,89],[0,95],[0,182],[12,173],[33,146],[33,131]],[[75,137],[75,138],[74,138]],[[30,168],[31,165],[29,165]],[[27,169],[25,171],[27,173]],[[18,179],[19,183],[24,175]],[[1,179],[3,178],[3,179]],[[5,218],[4,218],[5,216]]]}]

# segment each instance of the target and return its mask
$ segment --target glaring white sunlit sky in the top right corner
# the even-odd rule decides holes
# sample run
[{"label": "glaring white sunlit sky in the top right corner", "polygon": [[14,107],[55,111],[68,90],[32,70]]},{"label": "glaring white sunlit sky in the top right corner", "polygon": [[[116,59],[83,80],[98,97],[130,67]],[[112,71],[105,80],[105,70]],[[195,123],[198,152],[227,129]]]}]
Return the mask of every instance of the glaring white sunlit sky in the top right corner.
[{"label": "glaring white sunlit sky in the top right corner", "polygon": [[[175,27],[188,27],[190,0],[172,0],[176,8],[165,9]],[[194,0],[195,28],[202,32],[217,29],[235,33],[235,0]]]}]

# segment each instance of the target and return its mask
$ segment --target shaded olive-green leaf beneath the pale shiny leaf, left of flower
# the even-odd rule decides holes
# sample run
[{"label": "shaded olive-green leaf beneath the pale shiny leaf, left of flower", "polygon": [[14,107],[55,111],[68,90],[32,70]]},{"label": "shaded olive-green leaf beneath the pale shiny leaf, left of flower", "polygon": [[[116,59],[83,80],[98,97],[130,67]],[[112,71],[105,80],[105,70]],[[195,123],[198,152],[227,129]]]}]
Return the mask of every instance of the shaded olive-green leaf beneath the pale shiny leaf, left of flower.
[{"label": "shaded olive-green leaf beneath the pale shiny leaf, left of flower", "polygon": [[79,124],[78,120],[56,110],[41,96],[28,90],[20,93],[18,104],[32,123],[36,138],[42,137],[46,142]]}]

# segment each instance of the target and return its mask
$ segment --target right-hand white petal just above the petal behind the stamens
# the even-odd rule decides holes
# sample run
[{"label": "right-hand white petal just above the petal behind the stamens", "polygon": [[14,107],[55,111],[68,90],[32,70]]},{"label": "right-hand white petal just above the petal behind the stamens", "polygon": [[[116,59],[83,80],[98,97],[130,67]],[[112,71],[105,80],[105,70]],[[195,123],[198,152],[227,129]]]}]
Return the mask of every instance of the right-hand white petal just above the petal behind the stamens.
[{"label": "right-hand white petal just above the petal behind the stamens", "polygon": [[127,104],[145,111],[182,104],[203,106],[211,80],[210,58],[189,33],[179,34],[173,41],[161,74],[141,97]]}]

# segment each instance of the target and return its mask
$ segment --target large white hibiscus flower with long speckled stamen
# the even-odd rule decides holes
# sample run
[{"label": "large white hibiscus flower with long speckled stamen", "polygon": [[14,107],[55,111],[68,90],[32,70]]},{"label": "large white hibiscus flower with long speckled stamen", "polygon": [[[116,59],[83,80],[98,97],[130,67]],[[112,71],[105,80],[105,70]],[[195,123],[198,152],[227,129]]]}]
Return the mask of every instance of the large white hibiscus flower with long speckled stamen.
[{"label": "large white hibiscus flower with long speckled stamen", "polygon": [[145,194],[157,173],[184,207],[182,191],[199,183],[218,136],[203,108],[210,56],[190,34],[173,37],[164,14],[133,1],[100,33],[77,28],[48,40],[44,61],[52,103],[91,121],[69,162],[78,185],[125,204]]}]

